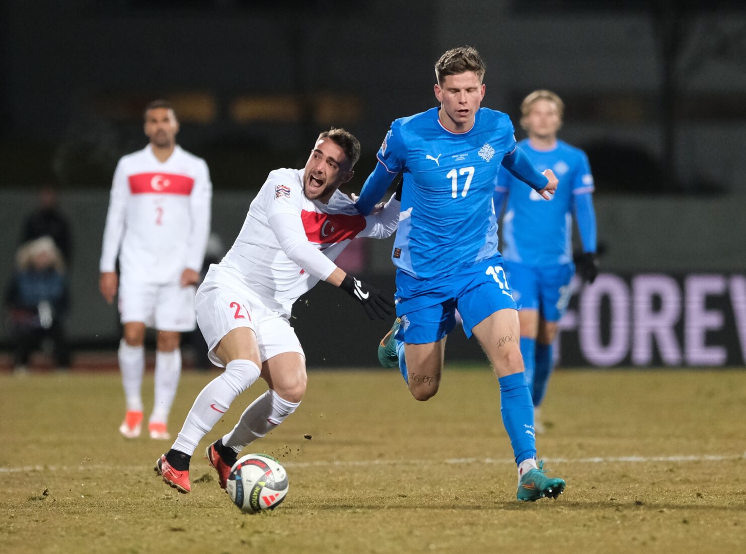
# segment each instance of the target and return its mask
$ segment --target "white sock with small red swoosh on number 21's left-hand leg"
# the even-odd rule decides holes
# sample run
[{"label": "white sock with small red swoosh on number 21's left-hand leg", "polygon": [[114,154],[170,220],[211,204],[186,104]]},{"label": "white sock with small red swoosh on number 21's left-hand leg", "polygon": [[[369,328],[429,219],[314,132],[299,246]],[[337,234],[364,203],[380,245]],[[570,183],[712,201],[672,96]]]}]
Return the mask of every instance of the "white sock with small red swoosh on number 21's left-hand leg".
[{"label": "white sock with small red swoosh on number 21's left-hand leg", "polygon": [[228,411],[231,402],[251,387],[259,378],[259,374],[259,367],[253,361],[228,362],[225,371],[210,381],[195,399],[172,448],[192,455],[199,441]]}]

